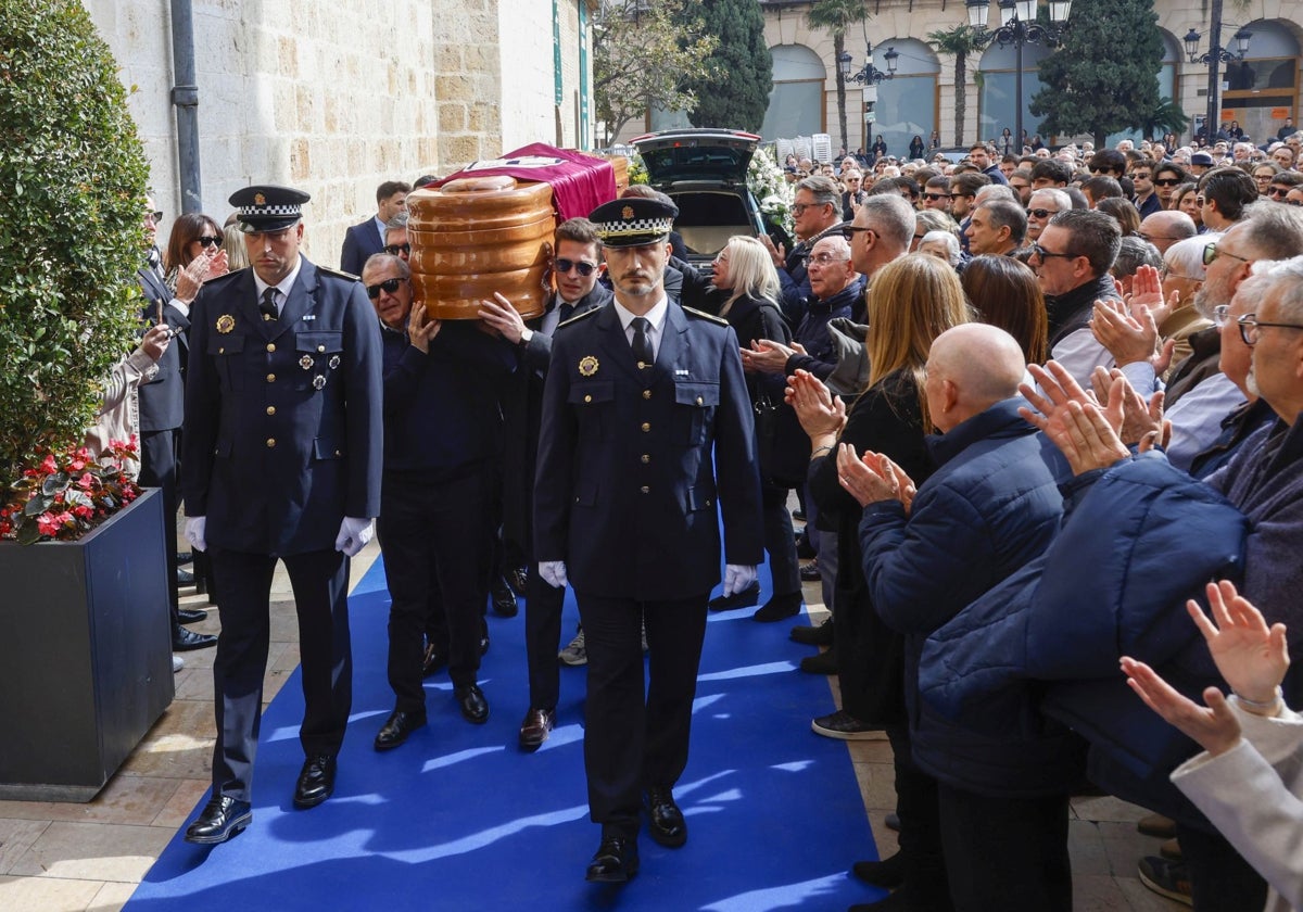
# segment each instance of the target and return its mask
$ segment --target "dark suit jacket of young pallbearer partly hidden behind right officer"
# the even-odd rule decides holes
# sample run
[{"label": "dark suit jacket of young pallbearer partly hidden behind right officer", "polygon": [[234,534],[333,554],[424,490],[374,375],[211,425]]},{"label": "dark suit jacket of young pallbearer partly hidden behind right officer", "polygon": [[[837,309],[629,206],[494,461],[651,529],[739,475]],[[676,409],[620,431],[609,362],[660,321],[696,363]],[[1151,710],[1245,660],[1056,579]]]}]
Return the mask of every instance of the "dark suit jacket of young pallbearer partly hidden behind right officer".
[{"label": "dark suit jacket of young pallbearer partly hidden behind right officer", "polygon": [[[611,301],[611,289],[598,283],[575,305],[573,317],[605,307]],[[532,552],[533,529],[530,491],[534,486],[534,466],[538,464],[538,427],[543,413],[543,382],[552,360],[552,339],[538,331],[543,318],[525,321],[534,331],[529,341],[519,347],[520,369],[507,378],[502,391],[502,410],[507,426],[507,446],[503,457],[503,522],[506,538],[524,552]]]}]

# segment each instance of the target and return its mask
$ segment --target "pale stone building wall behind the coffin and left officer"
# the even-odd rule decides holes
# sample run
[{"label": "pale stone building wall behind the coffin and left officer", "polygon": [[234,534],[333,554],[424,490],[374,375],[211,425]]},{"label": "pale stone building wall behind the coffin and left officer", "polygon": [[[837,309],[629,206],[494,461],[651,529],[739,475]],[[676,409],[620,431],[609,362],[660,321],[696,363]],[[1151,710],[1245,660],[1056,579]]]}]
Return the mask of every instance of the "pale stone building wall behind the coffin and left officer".
[{"label": "pale stone building wall behind the coffin and left officer", "polygon": [[[560,0],[563,23],[577,23],[582,1]],[[165,238],[181,180],[171,3],[83,3],[122,82],[134,87],[130,107]],[[192,7],[205,211],[224,220],[227,197],[251,182],[302,188],[313,195],[305,253],[323,266],[337,264],[345,228],[375,212],[380,182],[444,175],[504,147],[555,141],[551,0]],[[577,39],[562,48],[563,70],[577,73]],[[573,135],[572,124],[571,145]]]}]

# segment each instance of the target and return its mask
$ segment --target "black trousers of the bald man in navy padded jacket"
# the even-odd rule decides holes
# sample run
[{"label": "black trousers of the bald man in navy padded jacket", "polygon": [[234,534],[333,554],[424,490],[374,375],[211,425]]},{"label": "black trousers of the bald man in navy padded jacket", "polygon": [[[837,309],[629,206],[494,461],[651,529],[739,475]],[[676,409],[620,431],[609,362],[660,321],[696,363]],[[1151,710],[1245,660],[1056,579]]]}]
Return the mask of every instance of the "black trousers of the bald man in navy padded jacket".
[{"label": "black trousers of the bald man in navy padded jacket", "polygon": [[941,783],[938,799],[955,909],[1071,912],[1067,795],[988,797]]}]

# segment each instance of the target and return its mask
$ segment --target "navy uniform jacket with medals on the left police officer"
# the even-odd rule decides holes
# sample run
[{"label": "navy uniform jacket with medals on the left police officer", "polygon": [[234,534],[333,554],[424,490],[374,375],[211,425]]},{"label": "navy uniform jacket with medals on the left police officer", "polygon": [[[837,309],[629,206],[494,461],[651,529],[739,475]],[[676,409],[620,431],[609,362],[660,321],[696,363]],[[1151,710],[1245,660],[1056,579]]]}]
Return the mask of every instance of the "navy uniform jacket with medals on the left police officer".
[{"label": "navy uniform jacket with medals on the left police officer", "polygon": [[362,287],[308,259],[280,319],[253,270],[210,279],[190,311],[181,490],[207,541],[250,554],[334,547],[380,509],[380,331]]}]

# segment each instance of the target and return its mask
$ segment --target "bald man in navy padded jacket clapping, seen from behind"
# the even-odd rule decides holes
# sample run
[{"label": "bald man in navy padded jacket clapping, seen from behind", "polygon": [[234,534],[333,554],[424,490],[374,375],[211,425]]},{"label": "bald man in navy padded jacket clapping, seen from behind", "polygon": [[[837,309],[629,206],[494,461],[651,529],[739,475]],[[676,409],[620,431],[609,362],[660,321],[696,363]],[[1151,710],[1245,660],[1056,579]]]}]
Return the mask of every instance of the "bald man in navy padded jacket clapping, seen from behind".
[{"label": "bald man in navy padded jacket clapping, seen from behind", "polygon": [[1018,414],[1023,370],[1022,348],[1003,330],[968,323],[937,337],[924,391],[941,430],[928,438],[938,469],[916,494],[883,457],[838,453],[842,483],[864,507],[873,607],[906,640],[909,730],[887,735],[898,813],[912,836],[902,843],[911,908],[949,900],[955,909],[1072,908],[1067,793],[1076,743],[1015,734],[1014,719],[1009,736],[988,739],[919,704],[928,636],[1036,560],[1059,525],[1052,466],[1061,463]]}]

